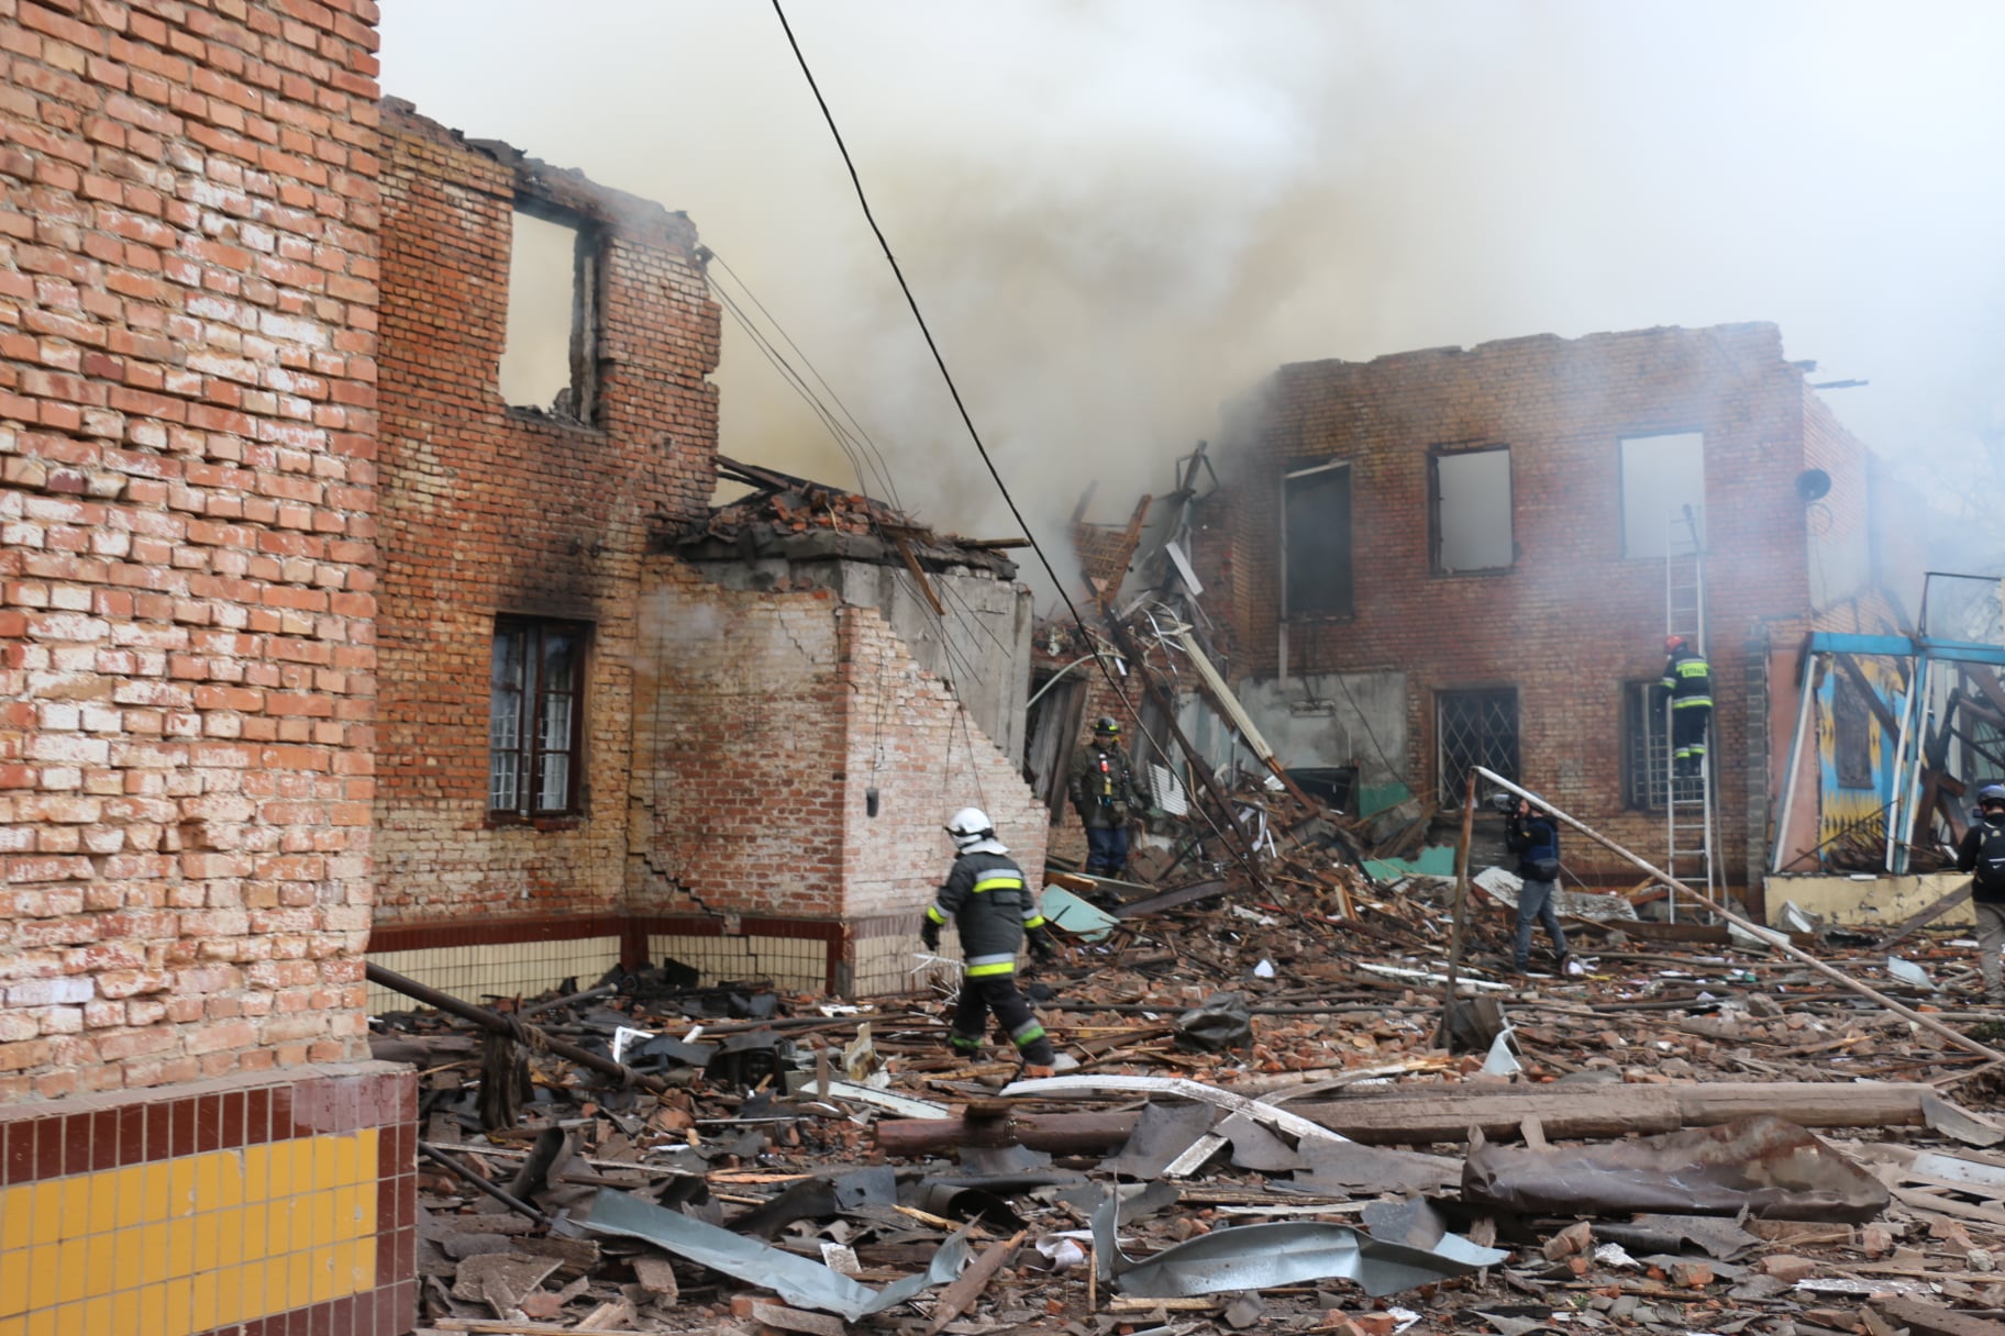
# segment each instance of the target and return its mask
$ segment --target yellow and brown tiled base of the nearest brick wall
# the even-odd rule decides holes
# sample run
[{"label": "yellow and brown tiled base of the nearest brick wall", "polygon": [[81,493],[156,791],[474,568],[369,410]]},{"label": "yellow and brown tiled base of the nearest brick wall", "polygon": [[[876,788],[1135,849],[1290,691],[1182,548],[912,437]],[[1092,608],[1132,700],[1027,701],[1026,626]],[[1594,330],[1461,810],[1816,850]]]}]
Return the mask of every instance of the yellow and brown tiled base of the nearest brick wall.
[{"label": "yellow and brown tiled base of the nearest brick wall", "polygon": [[379,1062],[0,1108],[0,1336],[403,1336],[415,1174]]}]

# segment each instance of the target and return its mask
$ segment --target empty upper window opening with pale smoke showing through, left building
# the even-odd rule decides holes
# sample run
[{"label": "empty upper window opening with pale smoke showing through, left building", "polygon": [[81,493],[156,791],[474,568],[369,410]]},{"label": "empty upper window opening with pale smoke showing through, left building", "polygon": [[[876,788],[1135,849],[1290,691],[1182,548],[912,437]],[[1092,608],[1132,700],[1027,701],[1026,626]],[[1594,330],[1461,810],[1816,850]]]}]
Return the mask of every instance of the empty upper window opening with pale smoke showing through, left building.
[{"label": "empty upper window opening with pale smoke showing through, left building", "polygon": [[515,210],[501,401],[591,423],[597,397],[597,236],[555,212]]}]

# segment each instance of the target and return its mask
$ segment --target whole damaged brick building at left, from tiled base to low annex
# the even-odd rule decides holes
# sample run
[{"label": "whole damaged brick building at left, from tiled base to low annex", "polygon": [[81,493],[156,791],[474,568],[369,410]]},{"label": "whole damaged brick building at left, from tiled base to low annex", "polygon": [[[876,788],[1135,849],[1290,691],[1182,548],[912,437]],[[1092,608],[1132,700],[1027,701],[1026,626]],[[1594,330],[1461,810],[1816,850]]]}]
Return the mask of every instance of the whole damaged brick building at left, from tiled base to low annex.
[{"label": "whole damaged brick building at left, from tiled base to low annex", "polygon": [[[882,991],[954,807],[1043,857],[1013,567],[882,511],[684,555],[694,226],[379,104],[375,18],[0,14],[0,1332],[409,1330],[365,953]],[[573,238],[541,407],[525,218]]]}]

